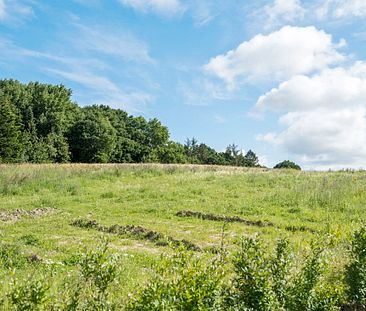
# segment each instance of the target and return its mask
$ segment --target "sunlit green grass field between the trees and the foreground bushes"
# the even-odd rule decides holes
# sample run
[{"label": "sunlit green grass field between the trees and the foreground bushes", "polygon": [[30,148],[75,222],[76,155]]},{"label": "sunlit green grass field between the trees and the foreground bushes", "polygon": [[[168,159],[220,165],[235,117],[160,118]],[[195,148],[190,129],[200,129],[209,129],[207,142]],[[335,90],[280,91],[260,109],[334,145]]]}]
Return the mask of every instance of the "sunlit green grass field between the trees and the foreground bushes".
[{"label": "sunlit green grass field between the trees and the foreground bushes", "polygon": [[[65,277],[74,277],[77,255],[93,249],[105,236],[110,251],[121,256],[112,295],[125,301],[149,279],[159,255],[171,252],[161,239],[70,225],[75,220],[95,220],[105,227],[140,226],[172,240],[187,240],[202,250],[203,257],[220,246],[224,224],[224,242],[229,250],[235,249],[241,236],[257,233],[269,246],[277,238],[287,237],[301,257],[312,240],[324,239],[329,244],[330,265],[336,270],[347,260],[345,245],[352,232],[364,224],[365,206],[363,171],[3,165],[1,244],[16,247],[21,256],[35,263],[2,269],[0,293],[5,295],[14,280],[45,271],[52,280],[50,291],[57,295],[58,284]],[[178,217],[180,211],[238,216],[253,223]]]}]

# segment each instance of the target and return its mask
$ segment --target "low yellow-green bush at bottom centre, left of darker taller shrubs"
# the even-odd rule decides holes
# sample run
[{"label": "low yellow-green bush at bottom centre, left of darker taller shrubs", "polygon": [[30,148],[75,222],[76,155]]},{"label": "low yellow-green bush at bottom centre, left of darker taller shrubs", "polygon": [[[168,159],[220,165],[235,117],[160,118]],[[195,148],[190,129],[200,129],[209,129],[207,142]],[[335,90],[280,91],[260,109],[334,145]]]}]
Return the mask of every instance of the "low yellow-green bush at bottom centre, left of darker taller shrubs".
[{"label": "low yellow-green bush at bottom centre, left of darker taller shrubs", "polygon": [[183,245],[162,257],[154,278],[132,298],[126,310],[212,310],[218,298],[225,255],[208,264]]}]

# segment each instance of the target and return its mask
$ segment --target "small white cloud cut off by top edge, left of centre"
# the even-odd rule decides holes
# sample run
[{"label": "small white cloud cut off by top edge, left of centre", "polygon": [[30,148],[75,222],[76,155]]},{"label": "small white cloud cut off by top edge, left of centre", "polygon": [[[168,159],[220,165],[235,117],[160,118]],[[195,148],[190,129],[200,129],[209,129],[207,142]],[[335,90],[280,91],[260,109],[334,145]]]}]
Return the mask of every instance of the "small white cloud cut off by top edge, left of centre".
[{"label": "small white cloud cut off by top edge, left of centre", "polygon": [[141,12],[154,12],[164,16],[174,16],[184,11],[179,0],[119,0],[123,5]]}]

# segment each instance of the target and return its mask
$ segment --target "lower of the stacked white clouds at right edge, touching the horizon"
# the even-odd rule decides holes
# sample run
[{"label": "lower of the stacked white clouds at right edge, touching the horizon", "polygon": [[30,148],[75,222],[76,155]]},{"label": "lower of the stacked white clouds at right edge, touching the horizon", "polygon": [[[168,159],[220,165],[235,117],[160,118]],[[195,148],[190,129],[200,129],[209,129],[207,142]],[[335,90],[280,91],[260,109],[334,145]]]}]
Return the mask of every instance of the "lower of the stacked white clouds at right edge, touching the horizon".
[{"label": "lower of the stacked white clouds at right edge, touching the horizon", "polygon": [[307,166],[365,166],[365,107],[290,112],[281,117],[280,123],[287,127],[286,130],[262,135],[258,139],[300,156]]}]

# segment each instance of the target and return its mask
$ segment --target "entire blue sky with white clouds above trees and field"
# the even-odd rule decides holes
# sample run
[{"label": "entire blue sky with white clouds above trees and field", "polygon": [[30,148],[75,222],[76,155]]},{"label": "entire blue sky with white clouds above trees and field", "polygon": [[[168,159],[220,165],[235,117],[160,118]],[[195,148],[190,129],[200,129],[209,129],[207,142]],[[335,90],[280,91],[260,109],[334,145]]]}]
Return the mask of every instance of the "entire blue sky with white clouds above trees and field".
[{"label": "entire blue sky with white clouds above trees and field", "polygon": [[0,0],[0,79],[267,166],[366,168],[365,0]]}]

